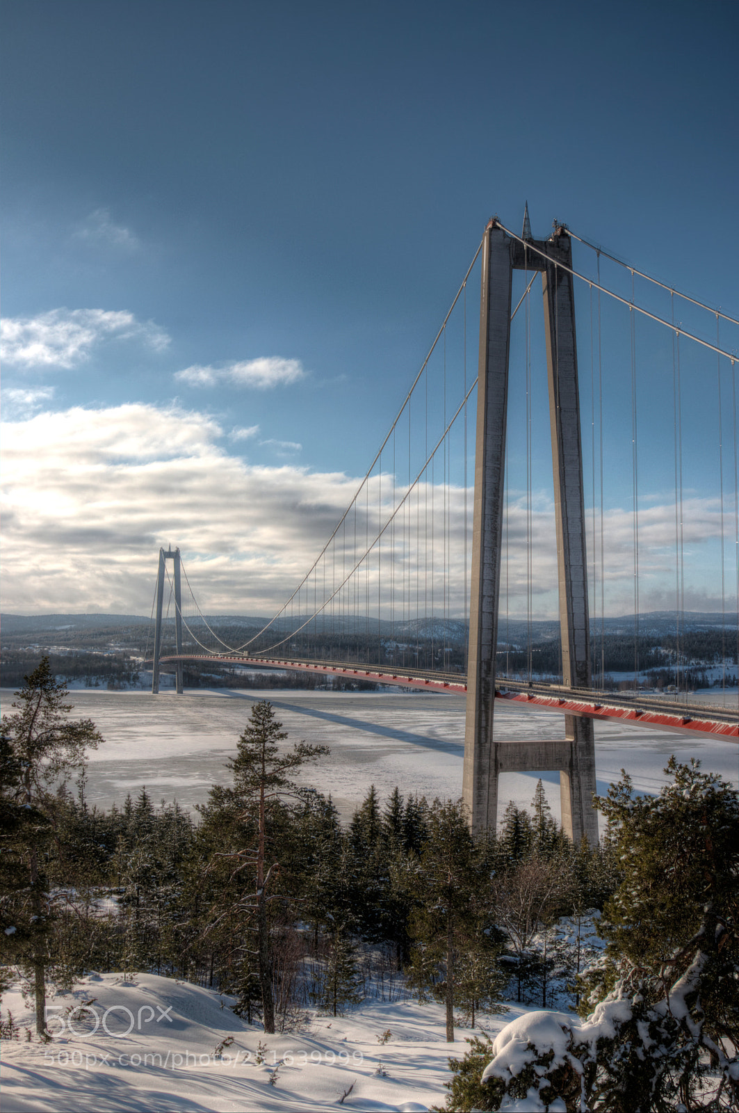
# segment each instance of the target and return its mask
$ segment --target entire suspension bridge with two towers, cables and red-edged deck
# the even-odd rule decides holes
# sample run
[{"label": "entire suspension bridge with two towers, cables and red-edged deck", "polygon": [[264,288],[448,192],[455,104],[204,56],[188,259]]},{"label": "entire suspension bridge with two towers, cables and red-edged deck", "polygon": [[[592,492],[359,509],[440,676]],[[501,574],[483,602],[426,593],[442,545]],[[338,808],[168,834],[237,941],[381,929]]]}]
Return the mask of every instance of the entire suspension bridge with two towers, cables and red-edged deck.
[{"label": "entire suspension bridge with two towers, cables and red-edged deck", "polygon": [[[219,662],[465,693],[473,828],[494,826],[502,772],[549,769],[565,830],[595,840],[594,719],[739,736],[738,329],[563,224],[534,238],[528,206],[520,235],[491,219],[354,496],[272,618],[204,613],[179,549],[160,550],[152,691],[164,664],[181,692],[188,667]],[[721,609],[696,617],[686,594]],[[711,638],[706,702],[692,662]],[[496,700],[559,712],[563,737],[495,737]]]}]

